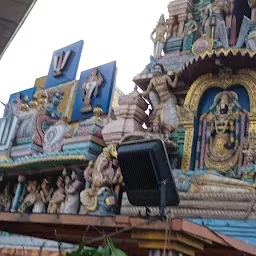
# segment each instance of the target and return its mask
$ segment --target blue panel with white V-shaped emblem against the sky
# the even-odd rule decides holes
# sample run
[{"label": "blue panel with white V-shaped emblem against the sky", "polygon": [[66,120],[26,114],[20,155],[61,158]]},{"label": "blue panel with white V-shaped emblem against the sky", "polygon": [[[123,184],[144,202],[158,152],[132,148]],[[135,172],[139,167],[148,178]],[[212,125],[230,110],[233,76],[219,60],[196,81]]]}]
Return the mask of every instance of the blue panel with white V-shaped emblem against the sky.
[{"label": "blue panel with white V-shaped emblem against the sky", "polygon": [[53,87],[76,79],[76,73],[84,41],[79,41],[53,53],[45,88]]}]

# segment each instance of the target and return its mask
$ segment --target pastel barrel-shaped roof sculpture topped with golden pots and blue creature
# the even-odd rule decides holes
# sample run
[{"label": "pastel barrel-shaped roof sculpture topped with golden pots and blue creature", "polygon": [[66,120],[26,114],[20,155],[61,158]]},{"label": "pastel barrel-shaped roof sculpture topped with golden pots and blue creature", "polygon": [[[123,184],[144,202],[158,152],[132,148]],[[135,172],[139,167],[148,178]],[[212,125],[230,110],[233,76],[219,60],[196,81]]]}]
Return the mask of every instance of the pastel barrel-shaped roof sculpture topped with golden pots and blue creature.
[{"label": "pastel barrel-shaped roof sculpture topped with golden pots and blue creature", "polygon": [[36,93],[30,103],[25,97],[21,104],[20,124],[15,134],[12,157],[24,156],[24,152],[29,152],[29,155],[42,153],[45,132],[62,116],[58,106],[63,95],[60,88],[50,88],[47,93]]}]

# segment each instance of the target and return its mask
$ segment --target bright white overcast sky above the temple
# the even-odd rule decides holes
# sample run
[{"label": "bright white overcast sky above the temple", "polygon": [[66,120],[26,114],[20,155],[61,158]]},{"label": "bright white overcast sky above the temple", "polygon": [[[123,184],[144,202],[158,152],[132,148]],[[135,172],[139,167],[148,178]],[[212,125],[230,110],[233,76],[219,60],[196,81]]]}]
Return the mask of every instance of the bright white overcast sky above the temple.
[{"label": "bright white overcast sky above the temple", "polygon": [[[0,100],[45,76],[53,51],[84,40],[77,73],[117,61],[117,86],[128,93],[132,78],[149,63],[150,33],[170,0],[37,0],[0,60]],[[2,115],[3,107],[0,107]]]}]

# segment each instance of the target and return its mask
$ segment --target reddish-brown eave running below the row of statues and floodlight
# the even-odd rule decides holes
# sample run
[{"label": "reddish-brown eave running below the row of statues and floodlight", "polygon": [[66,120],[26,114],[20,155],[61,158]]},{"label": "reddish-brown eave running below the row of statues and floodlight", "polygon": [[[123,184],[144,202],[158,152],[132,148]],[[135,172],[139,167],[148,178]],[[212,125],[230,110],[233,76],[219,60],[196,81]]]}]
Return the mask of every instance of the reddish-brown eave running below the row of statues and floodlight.
[{"label": "reddish-brown eave running below the row of statues and floodlight", "polygon": [[200,255],[206,255],[207,252],[216,253],[223,249],[230,255],[236,255],[236,251],[256,255],[254,246],[184,219],[162,221],[128,216],[0,213],[0,228],[7,232],[48,239],[56,239],[57,236],[62,242],[72,243],[80,242],[83,236],[88,245],[93,246],[101,244],[106,236],[112,237],[118,233],[117,237],[113,237],[114,242],[127,253],[132,252],[132,255],[142,255],[141,249],[164,248],[165,232],[168,229],[171,239],[167,248],[179,250],[187,255],[193,256],[199,252]]}]

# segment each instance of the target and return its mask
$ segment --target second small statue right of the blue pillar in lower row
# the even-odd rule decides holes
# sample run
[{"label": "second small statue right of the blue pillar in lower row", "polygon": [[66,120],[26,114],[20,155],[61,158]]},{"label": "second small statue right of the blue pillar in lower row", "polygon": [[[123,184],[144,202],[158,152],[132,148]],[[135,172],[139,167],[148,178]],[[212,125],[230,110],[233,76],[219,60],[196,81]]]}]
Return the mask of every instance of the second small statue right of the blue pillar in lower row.
[{"label": "second small statue right of the blue pillar in lower row", "polygon": [[41,189],[36,195],[36,201],[33,207],[33,213],[45,213],[47,210],[48,203],[51,199],[53,189],[49,188],[49,182],[46,178],[41,183]]}]

